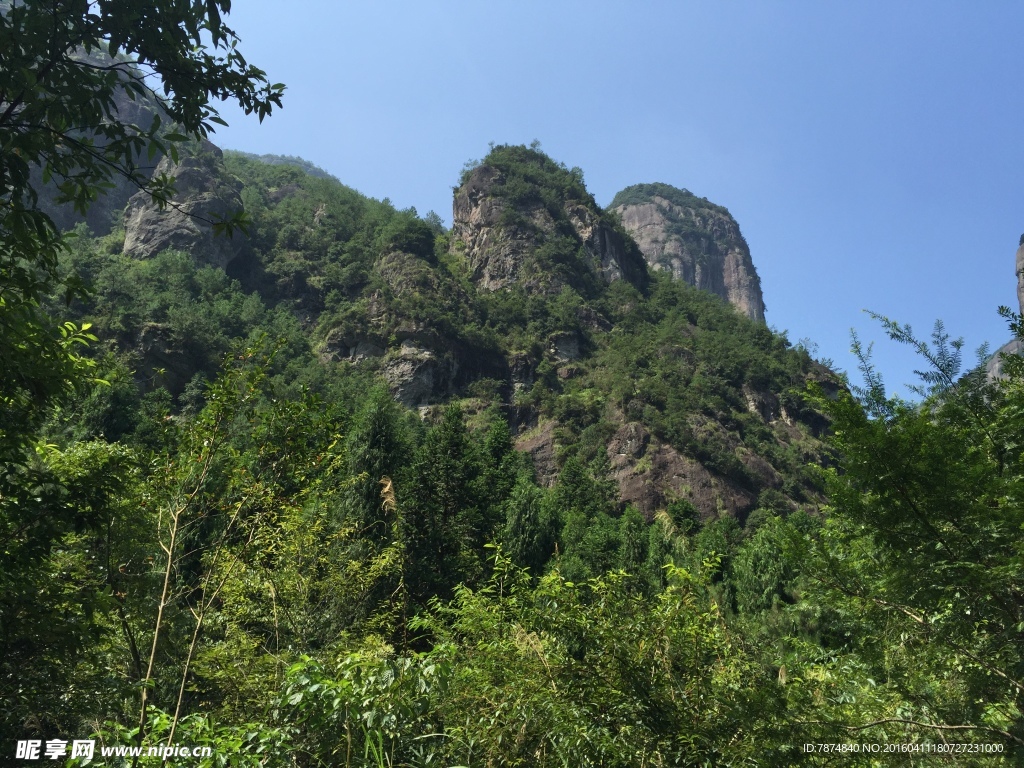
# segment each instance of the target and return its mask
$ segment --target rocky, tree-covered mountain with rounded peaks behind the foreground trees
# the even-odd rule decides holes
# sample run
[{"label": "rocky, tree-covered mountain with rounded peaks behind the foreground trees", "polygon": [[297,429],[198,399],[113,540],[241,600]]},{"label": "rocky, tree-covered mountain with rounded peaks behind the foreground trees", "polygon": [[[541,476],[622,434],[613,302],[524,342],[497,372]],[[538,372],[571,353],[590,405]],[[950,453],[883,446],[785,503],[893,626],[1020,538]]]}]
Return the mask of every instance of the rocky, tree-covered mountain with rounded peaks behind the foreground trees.
[{"label": "rocky, tree-covered mountain with rounded peaks behind the foreground trees", "polygon": [[[582,172],[524,146],[496,146],[464,173],[450,231],[296,164],[212,145],[171,173],[174,205],[132,200],[123,241],[106,239],[120,254],[90,262],[99,288],[81,308],[131,351],[143,389],[182,403],[232,338],[288,326],[296,380],[380,381],[428,420],[453,401],[468,414],[497,403],[545,486],[575,457],[613,483],[620,509],[648,518],[677,502],[744,519],[820,501],[806,465],[824,461],[825,422],[802,392],[838,380],[760,314],[649,269],[627,230],[641,211],[667,212],[658,226],[688,211],[706,234],[678,242],[736,266],[760,301],[724,209],[683,196],[684,209],[663,197],[681,194],[647,185],[602,210]],[[663,195],[642,202],[652,189]],[[240,201],[245,238],[213,238],[181,213],[215,217]],[[137,296],[115,292],[112,270]]]}]

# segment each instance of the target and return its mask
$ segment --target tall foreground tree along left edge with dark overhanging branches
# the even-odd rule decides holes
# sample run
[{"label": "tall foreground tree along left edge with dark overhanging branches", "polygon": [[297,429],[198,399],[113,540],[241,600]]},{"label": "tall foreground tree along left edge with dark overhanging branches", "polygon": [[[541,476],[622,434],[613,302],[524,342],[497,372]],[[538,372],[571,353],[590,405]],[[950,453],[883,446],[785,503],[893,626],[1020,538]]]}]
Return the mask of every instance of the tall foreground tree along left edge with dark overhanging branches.
[{"label": "tall foreground tree along left edge with dark overhanging branches", "polygon": [[[117,624],[105,616],[119,616],[133,637],[114,558],[136,541],[134,520],[124,521],[137,500],[134,458],[101,442],[39,444],[50,408],[77,392],[94,397],[92,364],[79,350],[96,340],[88,324],[57,323],[42,306],[58,288],[66,302],[81,296],[82,285],[60,273],[67,244],[39,208],[39,185],[50,184],[55,202],[80,213],[119,176],[166,202],[169,177],[151,178],[146,166],[222,122],[211,97],[233,98],[261,119],[280,105],[284,86],[246,63],[221,18],[227,5],[30,0],[0,9],[0,699],[14,728],[34,722],[50,730],[100,716],[103,708],[86,713],[74,701],[102,687],[97,638]],[[136,98],[157,100],[147,82],[162,85],[165,98],[159,111],[137,111],[139,125],[124,113]],[[118,387],[87,415],[117,410],[117,399],[123,411],[126,395]],[[80,437],[131,426],[130,418],[84,421]],[[138,645],[128,644],[138,676]],[[106,688],[108,701],[126,692],[119,681]]]}]

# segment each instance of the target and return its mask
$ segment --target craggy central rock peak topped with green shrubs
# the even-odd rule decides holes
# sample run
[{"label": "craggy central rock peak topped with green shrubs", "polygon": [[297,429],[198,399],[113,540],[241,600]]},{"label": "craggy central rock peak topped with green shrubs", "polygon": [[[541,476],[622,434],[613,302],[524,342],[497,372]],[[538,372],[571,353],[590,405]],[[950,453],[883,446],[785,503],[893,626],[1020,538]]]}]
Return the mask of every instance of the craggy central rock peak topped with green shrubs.
[{"label": "craggy central rock peak topped with green shrubs", "polygon": [[478,288],[557,293],[568,286],[593,295],[615,280],[646,285],[642,254],[570,171],[525,147],[508,151],[517,156],[514,173],[498,156],[455,193],[453,250]]}]

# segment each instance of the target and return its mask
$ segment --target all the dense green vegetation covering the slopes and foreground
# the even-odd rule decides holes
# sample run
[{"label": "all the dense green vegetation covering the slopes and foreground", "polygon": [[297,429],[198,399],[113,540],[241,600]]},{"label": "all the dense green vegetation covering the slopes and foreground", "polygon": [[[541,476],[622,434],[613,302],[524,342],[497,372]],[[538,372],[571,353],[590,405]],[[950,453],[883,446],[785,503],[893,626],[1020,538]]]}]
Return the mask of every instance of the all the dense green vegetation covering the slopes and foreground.
[{"label": "all the dense green vegetation covering the slopes and foreground", "polygon": [[[3,749],[94,737],[253,766],[1019,761],[1024,360],[996,382],[961,376],[941,327],[923,344],[884,321],[929,362],[922,401],[887,397],[866,357],[850,392],[666,279],[478,291],[436,217],[245,156],[227,168],[250,237],[226,270],[128,258],[123,230],[57,232],[30,163],[84,208],[145,148],[109,98],[134,71],[83,70],[78,46],[120,45],[172,83],[186,135],[154,124],[161,152],[205,134],[211,94],[259,114],[280,100],[236,53],[226,3],[151,5],[180,39],[99,0],[53,48],[59,77],[37,84],[52,99],[7,111],[39,106],[67,139],[87,108],[112,122],[108,165],[0,118]],[[55,12],[16,8],[0,8],[0,55],[28,58],[0,68],[4,93],[27,87]],[[210,36],[223,57],[204,54]],[[581,256],[558,226],[566,202],[593,206],[582,173],[536,147],[483,162],[510,217],[549,212],[542,255]],[[420,410],[388,378],[407,346],[462,364]],[[516,450],[546,430],[546,460]],[[651,509],[624,502],[638,477],[662,494]],[[871,743],[903,746],[852,751]]]}]

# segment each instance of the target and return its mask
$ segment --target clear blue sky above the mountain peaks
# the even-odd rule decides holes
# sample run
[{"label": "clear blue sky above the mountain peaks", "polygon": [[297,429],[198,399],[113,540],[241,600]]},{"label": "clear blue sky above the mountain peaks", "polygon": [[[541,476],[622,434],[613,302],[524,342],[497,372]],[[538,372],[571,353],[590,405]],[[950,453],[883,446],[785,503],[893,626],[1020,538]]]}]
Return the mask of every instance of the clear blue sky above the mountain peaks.
[{"label": "clear blue sky above the mountain peaks", "polygon": [[726,206],[768,324],[850,372],[856,329],[893,391],[914,360],[863,309],[942,318],[969,359],[1009,338],[1022,3],[236,0],[228,23],[288,90],[262,125],[224,109],[225,148],[450,224],[468,160],[539,139],[602,205],[664,181]]}]

